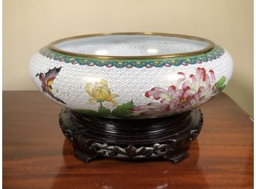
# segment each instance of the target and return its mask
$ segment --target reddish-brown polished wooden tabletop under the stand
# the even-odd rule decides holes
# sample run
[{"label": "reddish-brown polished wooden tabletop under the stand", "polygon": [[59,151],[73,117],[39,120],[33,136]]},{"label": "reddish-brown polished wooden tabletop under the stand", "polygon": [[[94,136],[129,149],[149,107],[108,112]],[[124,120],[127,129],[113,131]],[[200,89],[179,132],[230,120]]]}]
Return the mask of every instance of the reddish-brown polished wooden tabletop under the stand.
[{"label": "reddish-brown polished wooden tabletop under the stand", "polygon": [[83,163],[60,130],[60,110],[38,91],[3,92],[4,189],[252,188],[253,121],[224,93],[202,106],[202,132],[177,164]]}]

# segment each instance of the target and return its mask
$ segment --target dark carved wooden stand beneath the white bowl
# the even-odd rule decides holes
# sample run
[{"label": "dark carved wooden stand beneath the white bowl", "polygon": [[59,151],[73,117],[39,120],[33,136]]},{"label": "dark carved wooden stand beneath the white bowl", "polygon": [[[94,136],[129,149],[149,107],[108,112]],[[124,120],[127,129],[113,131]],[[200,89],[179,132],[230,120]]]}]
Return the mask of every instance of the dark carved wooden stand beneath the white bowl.
[{"label": "dark carved wooden stand beneath the white bowl", "polygon": [[97,118],[63,109],[60,128],[71,140],[74,154],[86,163],[96,157],[141,160],[164,157],[177,163],[199,135],[203,116],[199,109],[166,118]]}]

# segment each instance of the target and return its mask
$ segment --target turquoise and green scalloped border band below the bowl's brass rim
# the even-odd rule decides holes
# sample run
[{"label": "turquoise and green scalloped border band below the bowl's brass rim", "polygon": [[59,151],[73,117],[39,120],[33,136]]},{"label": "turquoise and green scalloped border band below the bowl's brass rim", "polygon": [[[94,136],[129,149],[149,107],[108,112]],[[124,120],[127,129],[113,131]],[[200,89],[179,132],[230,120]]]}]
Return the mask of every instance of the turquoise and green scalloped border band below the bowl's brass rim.
[{"label": "turquoise and green scalloped border band below the bowl's brass rim", "polygon": [[189,65],[197,63],[205,63],[210,60],[216,60],[224,54],[224,49],[221,46],[214,46],[211,51],[205,54],[199,54],[190,57],[172,57],[162,59],[143,59],[143,60],[100,60],[85,57],[71,57],[66,54],[60,54],[47,47],[43,47],[39,50],[39,53],[44,57],[48,57],[51,60],[59,60],[60,62],[88,65],[88,66],[106,66],[107,68],[152,68],[152,67],[170,67],[171,65]]}]

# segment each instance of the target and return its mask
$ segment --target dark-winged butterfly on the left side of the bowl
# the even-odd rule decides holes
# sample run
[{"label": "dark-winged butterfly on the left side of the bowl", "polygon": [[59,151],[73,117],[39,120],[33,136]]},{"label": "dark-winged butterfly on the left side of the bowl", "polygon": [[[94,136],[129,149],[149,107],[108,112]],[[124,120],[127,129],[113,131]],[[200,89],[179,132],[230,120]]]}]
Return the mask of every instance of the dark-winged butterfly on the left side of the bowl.
[{"label": "dark-winged butterfly on the left side of the bowl", "polygon": [[40,82],[42,84],[41,88],[43,89],[43,93],[48,93],[49,96],[51,96],[52,98],[65,104],[65,102],[63,100],[54,96],[54,94],[51,92],[51,90],[52,90],[51,84],[52,84],[52,82],[54,82],[54,79],[57,76],[57,74],[59,74],[61,68],[62,67],[60,67],[60,68],[54,67],[53,69],[46,72],[46,74],[40,73],[40,74],[36,74],[35,76],[39,76]]}]

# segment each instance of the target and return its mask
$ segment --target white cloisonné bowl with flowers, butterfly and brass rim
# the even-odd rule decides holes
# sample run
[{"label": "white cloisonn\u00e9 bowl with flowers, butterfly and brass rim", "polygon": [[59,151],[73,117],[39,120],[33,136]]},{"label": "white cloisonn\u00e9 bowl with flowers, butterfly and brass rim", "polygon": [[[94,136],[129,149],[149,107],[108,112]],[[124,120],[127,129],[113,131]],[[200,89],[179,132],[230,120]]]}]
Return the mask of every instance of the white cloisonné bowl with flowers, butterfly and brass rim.
[{"label": "white cloisonn\u00e9 bowl with flowers, butterfly and brass rim", "polygon": [[224,90],[230,54],[210,40],[163,33],[82,35],[30,60],[39,90],[63,107],[105,118],[157,118],[199,107]]}]

